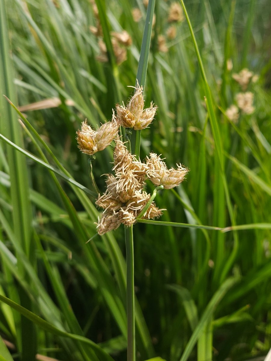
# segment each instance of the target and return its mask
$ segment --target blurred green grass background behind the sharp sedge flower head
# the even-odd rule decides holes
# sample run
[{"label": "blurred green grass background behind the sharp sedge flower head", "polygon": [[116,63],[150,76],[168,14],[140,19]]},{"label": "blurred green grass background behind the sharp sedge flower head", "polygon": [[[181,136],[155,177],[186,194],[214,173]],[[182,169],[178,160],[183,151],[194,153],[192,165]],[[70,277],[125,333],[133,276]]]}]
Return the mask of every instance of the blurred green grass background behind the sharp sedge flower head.
[{"label": "blurred green grass background behind the sharp sedge flower head", "polygon": [[[0,4],[1,95],[19,107],[70,176],[92,189],[76,131],[85,118],[93,127],[111,119],[115,104],[131,95],[146,1]],[[155,4],[145,100],[159,108],[141,133],[141,159],[154,151],[169,167],[181,162],[190,172],[175,191],[157,195],[156,204],[167,209],[159,220],[252,226],[224,233],[134,226],[137,358],[264,360],[271,347],[270,1],[185,2],[215,127],[187,22],[183,15],[169,21],[171,4]],[[102,36],[95,34],[99,24]],[[113,40],[119,57],[109,52],[105,61],[102,38],[106,43],[112,31],[123,30],[132,44]],[[246,89],[232,78],[244,68],[254,77]],[[253,93],[253,109],[239,106],[232,117],[227,109],[244,91]],[[0,105],[1,133],[59,168],[2,96]],[[101,190],[112,168],[109,148],[93,161]],[[109,353],[125,360],[124,229],[86,244],[96,233],[95,200],[2,141],[0,189],[0,295],[99,345],[95,351],[86,341],[44,330],[1,303],[0,359],[109,360]]]}]

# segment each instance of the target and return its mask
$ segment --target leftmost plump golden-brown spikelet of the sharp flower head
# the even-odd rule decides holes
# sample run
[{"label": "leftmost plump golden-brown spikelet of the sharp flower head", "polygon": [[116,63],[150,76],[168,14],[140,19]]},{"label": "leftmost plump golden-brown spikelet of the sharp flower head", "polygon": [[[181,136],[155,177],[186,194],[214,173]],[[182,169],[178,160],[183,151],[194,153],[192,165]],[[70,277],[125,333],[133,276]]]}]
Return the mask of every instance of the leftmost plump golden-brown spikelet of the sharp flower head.
[{"label": "leftmost plump golden-brown spikelet of the sharp flower head", "polygon": [[96,144],[95,135],[96,132],[87,125],[86,121],[82,123],[81,130],[76,132],[78,148],[89,155],[93,155],[98,152],[98,146]]}]

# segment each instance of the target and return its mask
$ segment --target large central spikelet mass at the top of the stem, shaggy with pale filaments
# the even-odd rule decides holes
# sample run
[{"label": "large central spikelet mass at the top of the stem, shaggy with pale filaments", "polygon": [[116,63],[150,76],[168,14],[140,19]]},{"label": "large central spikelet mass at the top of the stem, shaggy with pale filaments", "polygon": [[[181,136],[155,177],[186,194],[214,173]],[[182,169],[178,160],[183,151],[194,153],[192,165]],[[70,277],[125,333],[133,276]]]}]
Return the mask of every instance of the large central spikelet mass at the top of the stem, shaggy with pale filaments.
[{"label": "large central spikelet mass at the top of the stem, shaggy with pale filaments", "polygon": [[[131,226],[150,200],[150,194],[143,190],[147,165],[131,155],[119,139],[116,140],[113,156],[115,175],[107,175],[106,192],[96,201],[96,205],[104,209],[97,225],[100,235],[117,229],[121,223]],[[152,202],[142,218],[159,217],[161,214],[162,210]]]}]

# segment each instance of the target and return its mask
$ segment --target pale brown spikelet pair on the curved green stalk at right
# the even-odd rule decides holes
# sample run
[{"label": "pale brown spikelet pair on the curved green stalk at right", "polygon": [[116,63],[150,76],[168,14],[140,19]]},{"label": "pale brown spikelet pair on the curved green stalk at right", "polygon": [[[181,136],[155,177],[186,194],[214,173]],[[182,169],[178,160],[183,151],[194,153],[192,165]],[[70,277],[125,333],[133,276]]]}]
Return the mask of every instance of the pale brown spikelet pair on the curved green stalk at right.
[{"label": "pale brown spikelet pair on the curved green stalk at right", "polygon": [[177,169],[168,169],[165,162],[155,153],[150,153],[146,161],[149,170],[147,177],[156,186],[163,184],[165,189],[170,189],[178,186],[184,179],[188,169],[181,164],[177,164]]}]

